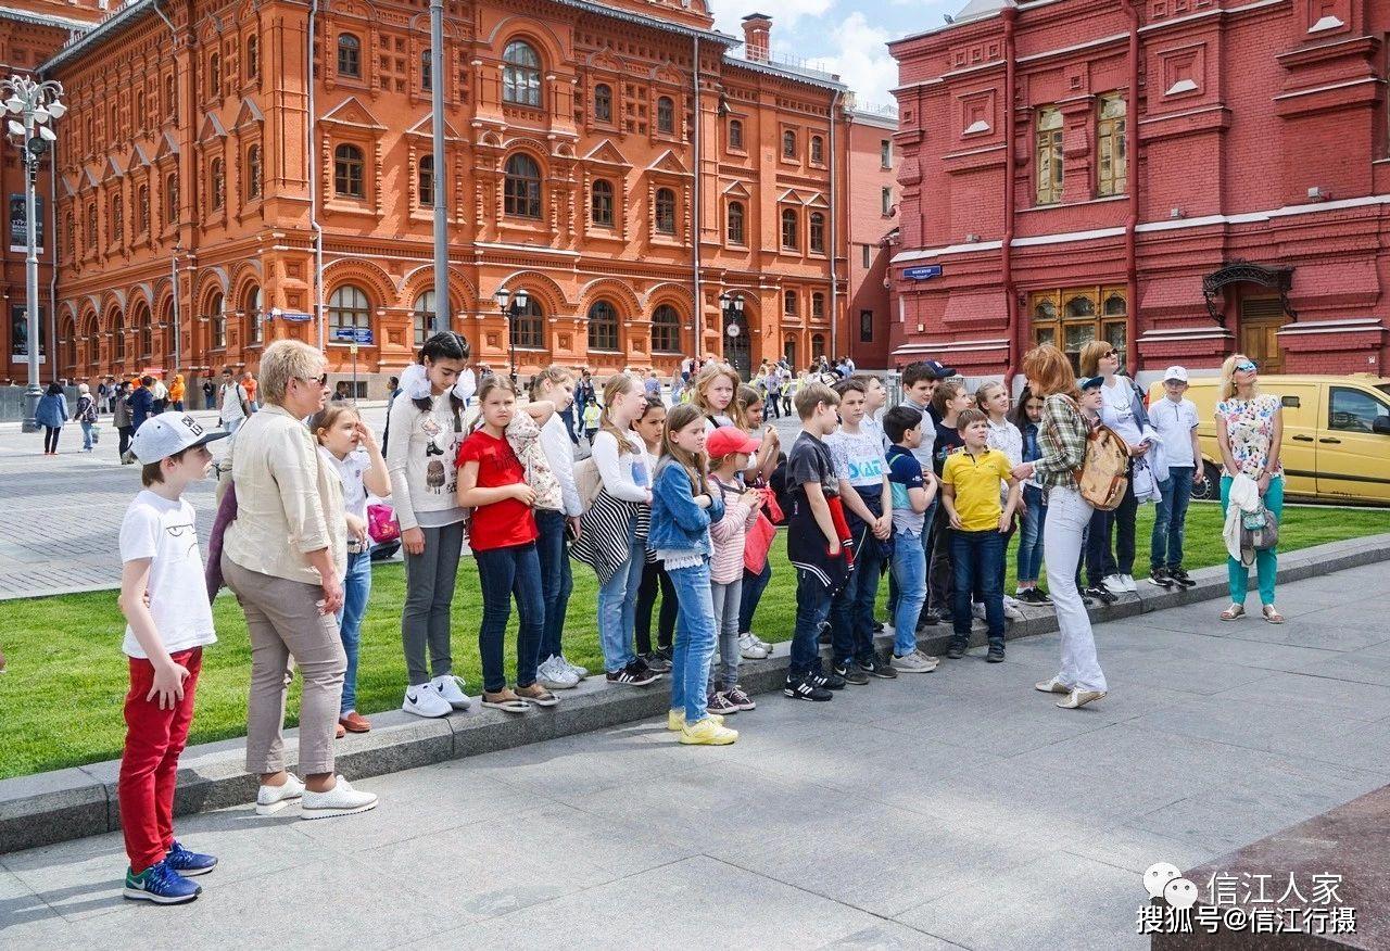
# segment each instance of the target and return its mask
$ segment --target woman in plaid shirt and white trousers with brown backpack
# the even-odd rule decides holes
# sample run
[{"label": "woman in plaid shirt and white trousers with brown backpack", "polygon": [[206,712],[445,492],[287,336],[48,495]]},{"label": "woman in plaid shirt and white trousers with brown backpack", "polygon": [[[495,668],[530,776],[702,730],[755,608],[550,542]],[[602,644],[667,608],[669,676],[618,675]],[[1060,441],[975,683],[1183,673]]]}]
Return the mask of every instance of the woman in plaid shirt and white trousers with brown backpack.
[{"label": "woman in plaid shirt and white trousers with brown backpack", "polygon": [[1023,357],[1023,373],[1029,389],[1042,396],[1042,423],[1038,425],[1042,456],[1016,467],[1013,477],[1020,481],[1037,477],[1047,492],[1042,551],[1048,592],[1062,630],[1062,669],[1037,688],[1045,694],[1066,694],[1058,706],[1074,710],[1101,699],[1108,690],[1095,658],[1091,619],[1076,590],[1081,535],[1094,512],[1076,484],[1076,473],[1086,463],[1090,427],[1077,405],[1076,374],[1065,353],[1048,343],[1037,346]]}]

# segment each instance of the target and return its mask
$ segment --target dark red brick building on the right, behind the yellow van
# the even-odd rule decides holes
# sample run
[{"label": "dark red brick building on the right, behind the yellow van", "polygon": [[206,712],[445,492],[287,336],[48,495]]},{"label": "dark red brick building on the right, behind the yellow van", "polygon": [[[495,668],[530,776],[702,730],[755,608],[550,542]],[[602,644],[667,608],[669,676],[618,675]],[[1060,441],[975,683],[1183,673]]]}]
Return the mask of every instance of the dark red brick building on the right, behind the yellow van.
[{"label": "dark red brick building on the right, behind the yellow van", "polygon": [[1386,373],[1390,4],[973,0],[899,63],[897,363]]}]

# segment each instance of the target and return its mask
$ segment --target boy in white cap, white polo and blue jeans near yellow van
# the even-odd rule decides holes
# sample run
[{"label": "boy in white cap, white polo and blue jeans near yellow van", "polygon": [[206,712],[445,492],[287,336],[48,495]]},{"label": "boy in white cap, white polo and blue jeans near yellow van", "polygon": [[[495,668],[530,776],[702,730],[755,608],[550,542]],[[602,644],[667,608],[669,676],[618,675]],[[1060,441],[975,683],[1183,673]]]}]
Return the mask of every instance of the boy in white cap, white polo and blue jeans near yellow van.
[{"label": "boy in white cap, white polo and blue jeans near yellow van", "polygon": [[1183,570],[1183,530],[1193,485],[1204,478],[1202,449],[1197,441],[1197,406],[1183,398],[1187,370],[1165,370],[1163,391],[1163,399],[1148,407],[1148,421],[1163,441],[1163,459],[1168,462],[1168,480],[1158,484],[1162,498],[1154,513],[1148,583],[1162,588],[1187,588],[1197,583]]}]

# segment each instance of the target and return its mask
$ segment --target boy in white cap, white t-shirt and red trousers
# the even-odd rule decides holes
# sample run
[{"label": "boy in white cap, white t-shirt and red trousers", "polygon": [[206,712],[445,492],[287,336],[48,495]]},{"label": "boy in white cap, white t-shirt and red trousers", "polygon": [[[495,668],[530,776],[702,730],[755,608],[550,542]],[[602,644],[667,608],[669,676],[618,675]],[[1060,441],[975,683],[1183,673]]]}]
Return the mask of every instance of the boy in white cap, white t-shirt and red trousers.
[{"label": "boy in white cap, white t-shirt and red trousers", "polygon": [[160,905],[197,898],[202,888],[185,876],[217,866],[211,855],[190,852],[174,838],[174,784],[203,647],[217,641],[193,506],[182,496],[207,476],[207,444],[225,435],[171,412],[146,420],[131,442],[145,489],[121,521],[120,605],[128,621],[122,649],[131,690],[117,798],[131,862],[124,895]]}]

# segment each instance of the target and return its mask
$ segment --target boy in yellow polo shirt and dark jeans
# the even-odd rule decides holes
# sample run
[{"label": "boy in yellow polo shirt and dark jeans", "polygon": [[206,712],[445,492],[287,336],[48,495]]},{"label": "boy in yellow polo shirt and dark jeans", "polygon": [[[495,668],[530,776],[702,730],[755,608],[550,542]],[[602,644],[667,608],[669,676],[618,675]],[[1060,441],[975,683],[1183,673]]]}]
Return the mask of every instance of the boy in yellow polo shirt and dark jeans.
[{"label": "boy in yellow polo shirt and dark jeans", "polygon": [[[1004,571],[1005,542],[1013,510],[1019,505],[1019,481],[1013,478],[1009,457],[990,449],[990,417],[980,410],[962,410],[956,431],[965,449],[947,457],[941,471],[941,503],[951,519],[951,560],[955,564],[954,633],[947,656],[959,660],[970,642],[970,595],[977,590],[984,599],[990,652],[986,660],[1004,660]],[[1009,496],[999,505],[999,484],[1006,482]]]}]

